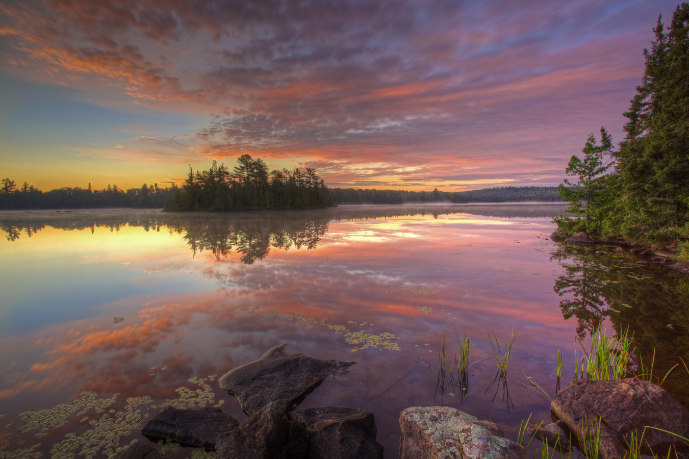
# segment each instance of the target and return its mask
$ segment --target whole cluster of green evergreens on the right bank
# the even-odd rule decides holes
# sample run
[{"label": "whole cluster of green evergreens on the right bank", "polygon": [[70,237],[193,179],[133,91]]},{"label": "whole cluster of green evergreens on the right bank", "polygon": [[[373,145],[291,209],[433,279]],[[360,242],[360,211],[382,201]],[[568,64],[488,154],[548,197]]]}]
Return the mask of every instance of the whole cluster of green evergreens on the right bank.
[{"label": "whole cluster of green evergreens on the right bank", "polygon": [[566,168],[576,180],[559,187],[572,216],[555,222],[599,239],[678,245],[689,258],[689,3],[653,31],[619,150],[604,128],[600,144],[588,137]]}]

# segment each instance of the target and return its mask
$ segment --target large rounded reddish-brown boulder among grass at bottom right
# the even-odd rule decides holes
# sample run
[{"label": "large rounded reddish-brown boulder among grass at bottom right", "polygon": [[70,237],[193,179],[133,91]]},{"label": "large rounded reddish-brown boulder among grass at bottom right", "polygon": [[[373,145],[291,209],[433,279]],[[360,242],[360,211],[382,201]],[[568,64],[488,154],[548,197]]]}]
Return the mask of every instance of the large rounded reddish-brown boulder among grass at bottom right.
[{"label": "large rounded reddish-brown boulder among grass at bottom right", "polygon": [[[606,459],[622,458],[630,433],[641,435],[643,426],[689,436],[689,411],[664,389],[638,379],[575,381],[555,395],[551,409],[579,438],[593,435],[601,418],[600,451]],[[650,449],[677,441],[656,429],[644,433]]]}]

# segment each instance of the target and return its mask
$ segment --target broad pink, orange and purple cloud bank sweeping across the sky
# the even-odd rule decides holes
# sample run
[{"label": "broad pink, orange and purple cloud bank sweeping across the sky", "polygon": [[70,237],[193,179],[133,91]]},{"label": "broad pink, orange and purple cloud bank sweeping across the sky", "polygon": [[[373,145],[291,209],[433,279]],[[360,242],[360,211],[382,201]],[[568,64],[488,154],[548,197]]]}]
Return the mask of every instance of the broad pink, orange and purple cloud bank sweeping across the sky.
[{"label": "broad pink, orange and purple cloud bank sweeping across the sky", "polygon": [[[134,105],[215,113],[191,133],[207,158],[441,174],[530,155],[560,158],[564,169],[600,125],[619,139],[641,49],[657,13],[673,6],[22,1],[3,6],[0,33],[12,72]],[[522,181],[537,179],[532,165]],[[337,180],[369,180],[350,172]]]}]

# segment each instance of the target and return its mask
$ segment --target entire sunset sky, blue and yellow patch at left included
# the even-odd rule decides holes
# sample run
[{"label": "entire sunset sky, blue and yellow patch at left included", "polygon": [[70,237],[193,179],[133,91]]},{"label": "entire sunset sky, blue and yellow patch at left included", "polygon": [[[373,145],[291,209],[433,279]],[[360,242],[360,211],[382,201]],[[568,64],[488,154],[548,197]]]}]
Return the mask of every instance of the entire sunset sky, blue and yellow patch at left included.
[{"label": "entire sunset sky, blue and yellow patch at left included", "polygon": [[0,0],[0,176],[167,186],[556,186],[644,74],[668,0]]}]

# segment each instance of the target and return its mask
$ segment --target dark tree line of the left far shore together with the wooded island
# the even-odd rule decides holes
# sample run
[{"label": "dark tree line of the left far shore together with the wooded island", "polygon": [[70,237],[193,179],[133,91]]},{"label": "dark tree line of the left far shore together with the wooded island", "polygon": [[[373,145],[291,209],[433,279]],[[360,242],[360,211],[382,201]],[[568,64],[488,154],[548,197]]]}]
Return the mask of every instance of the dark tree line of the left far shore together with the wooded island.
[{"label": "dark tree line of the left far shore together with the wooded island", "polygon": [[233,211],[266,209],[313,209],[331,207],[328,189],[316,171],[287,169],[268,172],[260,158],[243,154],[233,173],[214,161],[209,170],[189,167],[180,187],[158,187],[157,183],[121,190],[107,185],[103,190],[61,187],[42,192],[24,182],[2,179],[0,210],[17,209],[93,209],[103,207],[161,208],[171,212]]}]

